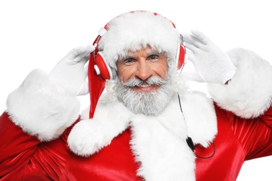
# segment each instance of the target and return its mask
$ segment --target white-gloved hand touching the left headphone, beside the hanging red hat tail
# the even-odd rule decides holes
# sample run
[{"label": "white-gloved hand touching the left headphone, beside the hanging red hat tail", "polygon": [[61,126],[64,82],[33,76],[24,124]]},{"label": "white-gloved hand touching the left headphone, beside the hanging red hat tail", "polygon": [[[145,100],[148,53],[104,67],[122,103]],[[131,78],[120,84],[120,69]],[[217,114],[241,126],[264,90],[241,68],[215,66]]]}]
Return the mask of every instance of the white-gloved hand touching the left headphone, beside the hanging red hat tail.
[{"label": "white-gloved hand touching the left headphone, beside the hanging red hat tail", "polygon": [[72,49],[51,70],[50,81],[65,93],[71,95],[88,94],[89,86],[86,81],[88,66],[85,64],[94,49],[93,45]]}]

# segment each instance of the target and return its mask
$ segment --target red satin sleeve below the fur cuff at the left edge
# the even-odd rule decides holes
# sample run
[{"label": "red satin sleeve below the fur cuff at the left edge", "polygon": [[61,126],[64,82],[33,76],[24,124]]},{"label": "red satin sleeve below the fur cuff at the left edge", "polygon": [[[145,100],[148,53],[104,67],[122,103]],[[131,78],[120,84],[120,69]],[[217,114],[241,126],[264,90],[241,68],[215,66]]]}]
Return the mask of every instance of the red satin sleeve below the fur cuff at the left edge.
[{"label": "red satin sleeve below the fur cuff at the left edge", "polygon": [[22,178],[25,166],[36,151],[36,137],[22,132],[4,112],[0,117],[0,179]]}]

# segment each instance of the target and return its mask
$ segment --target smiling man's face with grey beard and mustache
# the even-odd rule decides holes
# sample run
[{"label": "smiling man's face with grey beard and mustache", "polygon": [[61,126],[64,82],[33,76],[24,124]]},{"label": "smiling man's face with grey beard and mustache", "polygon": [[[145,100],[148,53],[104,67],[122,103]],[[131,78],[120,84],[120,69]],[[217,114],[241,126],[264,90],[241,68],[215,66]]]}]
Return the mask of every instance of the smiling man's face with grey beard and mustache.
[{"label": "smiling man's face with grey beard and mustache", "polygon": [[117,96],[134,113],[156,116],[172,97],[167,56],[147,46],[117,61]]}]

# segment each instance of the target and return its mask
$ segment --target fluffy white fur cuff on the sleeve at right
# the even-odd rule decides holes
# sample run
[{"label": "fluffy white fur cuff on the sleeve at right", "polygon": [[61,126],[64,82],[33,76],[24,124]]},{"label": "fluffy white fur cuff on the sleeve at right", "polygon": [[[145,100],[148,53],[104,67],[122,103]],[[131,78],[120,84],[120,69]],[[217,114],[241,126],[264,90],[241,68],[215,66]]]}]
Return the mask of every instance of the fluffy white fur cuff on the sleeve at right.
[{"label": "fluffy white fur cuff on the sleeve at right", "polygon": [[255,118],[271,106],[272,66],[246,49],[228,52],[236,74],[227,85],[210,84],[211,97],[223,109],[243,118]]}]

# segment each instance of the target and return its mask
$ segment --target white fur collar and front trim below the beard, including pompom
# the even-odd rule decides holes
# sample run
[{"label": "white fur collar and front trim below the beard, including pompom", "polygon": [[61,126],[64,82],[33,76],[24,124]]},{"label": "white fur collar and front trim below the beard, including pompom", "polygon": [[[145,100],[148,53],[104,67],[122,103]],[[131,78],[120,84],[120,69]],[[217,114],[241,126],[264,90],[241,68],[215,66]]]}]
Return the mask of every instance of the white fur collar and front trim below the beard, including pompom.
[{"label": "white fur collar and front trim below the beard, including pompom", "polygon": [[[186,143],[190,136],[205,147],[217,133],[213,101],[202,93],[177,95],[159,116],[135,115],[119,101],[99,102],[93,120],[89,109],[68,136],[70,149],[89,156],[108,145],[129,126],[132,151],[141,163],[138,175],[146,180],[195,180],[195,155]],[[185,116],[185,120],[184,117]]]}]

